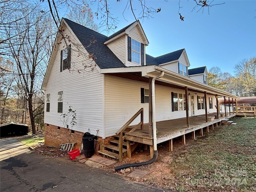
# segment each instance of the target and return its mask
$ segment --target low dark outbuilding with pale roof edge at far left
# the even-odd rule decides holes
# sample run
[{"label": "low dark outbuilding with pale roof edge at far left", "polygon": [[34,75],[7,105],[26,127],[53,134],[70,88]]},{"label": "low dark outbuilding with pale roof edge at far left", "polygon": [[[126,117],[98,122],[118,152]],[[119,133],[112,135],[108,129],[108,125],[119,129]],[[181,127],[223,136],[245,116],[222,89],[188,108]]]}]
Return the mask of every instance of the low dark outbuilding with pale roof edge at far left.
[{"label": "low dark outbuilding with pale roof edge at far left", "polygon": [[28,126],[14,122],[0,125],[0,137],[20,136],[28,133]]}]

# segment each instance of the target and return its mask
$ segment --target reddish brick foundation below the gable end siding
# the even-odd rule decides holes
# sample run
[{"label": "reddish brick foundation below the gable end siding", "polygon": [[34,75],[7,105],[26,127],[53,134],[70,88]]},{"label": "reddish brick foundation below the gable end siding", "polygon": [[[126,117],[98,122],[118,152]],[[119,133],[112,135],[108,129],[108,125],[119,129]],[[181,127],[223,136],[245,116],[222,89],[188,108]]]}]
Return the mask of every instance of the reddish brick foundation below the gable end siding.
[{"label": "reddish brick foundation below the gable end siding", "polygon": [[[68,131],[68,135],[70,134],[71,130]],[[74,149],[79,149],[81,142],[82,142],[82,136],[84,136],[84,133],[79,131],[74,131],[74,134],[72,133],[70,136],[70,142],[76,143],[74,146]],[[114,137],[110,136],[108,138],[102,139],[102,137],[98,137],[97,143],[100,144],[100,149],[103,149],[103,146],[106,144],[109,144],[109,140],[112,140]],[[44,145],[45,146],[54,146],[58,148],[60,144],[62,143],[68,143],[68,139],[66,137],[65,128],[51,125],[51,124],[44,124]]]}]

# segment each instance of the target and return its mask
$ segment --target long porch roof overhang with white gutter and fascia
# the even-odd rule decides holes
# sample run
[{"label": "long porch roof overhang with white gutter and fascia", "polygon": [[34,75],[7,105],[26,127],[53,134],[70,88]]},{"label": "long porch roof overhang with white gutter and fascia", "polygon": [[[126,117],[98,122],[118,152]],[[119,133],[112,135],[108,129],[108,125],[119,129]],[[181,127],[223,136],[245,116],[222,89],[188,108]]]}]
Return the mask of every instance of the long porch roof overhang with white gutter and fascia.
[{"label": "long porch roof overhang with white gutter and fascia", "polygon": [[102,74],[109,74],[113,76],[120,76],[123,78],[139,80],[143,82],[148,82],[148,78],[156,77],[164,72],[164,76],[156,80],[156,84],[161,84],[164,86],[170,86],[175,88],[184,89],[188,88],[189,92],[206,92],[207,94],[212,94],[216,96],[226,96],[230,98],[239,98],[236,95],[228,93],[226,91],[214,88],[212,86],[203,84],[189,77],[180,75],[178,73],[172,72],[160,66],[137,66],[137,67],[125,67],[125,68],[108,68],[101,69]]}]

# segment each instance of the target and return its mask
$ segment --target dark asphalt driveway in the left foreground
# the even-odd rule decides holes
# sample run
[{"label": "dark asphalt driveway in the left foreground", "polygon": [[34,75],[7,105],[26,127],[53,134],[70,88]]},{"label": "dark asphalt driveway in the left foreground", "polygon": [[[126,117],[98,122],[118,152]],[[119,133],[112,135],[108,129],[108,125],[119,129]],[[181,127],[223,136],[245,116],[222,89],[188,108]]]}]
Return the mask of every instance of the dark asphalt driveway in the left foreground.
[{"label": "dark asphalt driveway in the left foreground", "polygon": [[0,161],[1,192],[167,192],[64,158],[24,153]]}]

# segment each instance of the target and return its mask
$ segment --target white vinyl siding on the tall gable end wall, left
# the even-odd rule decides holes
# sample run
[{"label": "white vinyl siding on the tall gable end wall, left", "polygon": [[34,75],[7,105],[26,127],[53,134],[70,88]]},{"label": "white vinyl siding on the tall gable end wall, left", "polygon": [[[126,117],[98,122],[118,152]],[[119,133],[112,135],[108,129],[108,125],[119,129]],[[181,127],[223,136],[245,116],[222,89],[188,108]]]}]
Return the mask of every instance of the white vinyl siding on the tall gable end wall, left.
[{"label": "white vinyl siding on the tall gable end wall, left", "polygon": [[[65,33],[67,32],[68,30],[65,30]],[[72,37],[71,33],[68,35]],[[72,42],[78,44],[75,38],[72,38]],[[61,113],[57,112],[58,91],[61,90],[63,91],[62,113],[68,112],[69,106],[76,110],[77,124],[73,130],[87,132],[89,128],[90,133],[96,135],[96,130],[99,129],[98,136],[102,136],[103,75],[96,69],[88,73],[69,72],[69,70],[60,72],[60,51],[63,49],[64,43],[60,45],[59,48],[56,48],[56,57],[46,85],[46,93],[51,96],[51,106],[50,112],[44,113],[44,122],[55,126],[64,126],[61,121]],[[76,55],[77,52],[73,48],[72,54]],[[85,57],[88,56],[86,50],[82,51]],[[71,63],[76,64],[78,68],[82,68],[83,61],[83,56],[71,58]]]}]

